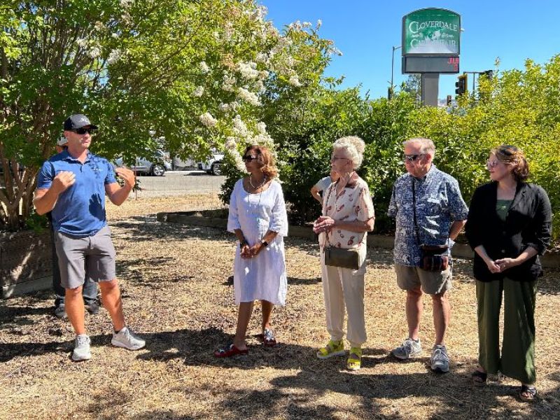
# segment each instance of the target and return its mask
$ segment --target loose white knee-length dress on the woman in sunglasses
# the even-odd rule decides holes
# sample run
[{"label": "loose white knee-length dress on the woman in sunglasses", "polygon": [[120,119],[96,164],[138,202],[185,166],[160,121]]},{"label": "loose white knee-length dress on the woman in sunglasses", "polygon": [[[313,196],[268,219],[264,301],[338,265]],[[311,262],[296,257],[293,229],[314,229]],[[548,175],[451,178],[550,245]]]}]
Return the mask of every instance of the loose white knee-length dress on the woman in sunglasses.
[{"label": "loose white knee-length dress on the woman in sunglasses", "polygon": [[268,230],[276,238],[254,258],[241,258],[239,243],[235,248],[233,287],[235,303],[267,300],[286,303],[286,253],[283,237],[288,235],[288,216],[280,184],[272,181],[260,194],[249,194],[243,180],[235,183],[230,197],[228,231],[241,229],[249,246],[260,241]]}]

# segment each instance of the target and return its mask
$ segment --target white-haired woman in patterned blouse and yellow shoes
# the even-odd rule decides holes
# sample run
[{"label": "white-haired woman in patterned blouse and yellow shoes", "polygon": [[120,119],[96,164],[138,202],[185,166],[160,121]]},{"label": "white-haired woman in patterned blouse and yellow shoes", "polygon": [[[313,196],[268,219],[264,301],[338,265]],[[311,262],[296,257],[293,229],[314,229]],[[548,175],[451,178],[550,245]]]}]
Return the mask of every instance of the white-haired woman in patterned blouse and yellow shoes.
[{"label": "white-haired woman in patterned blouse and yellow shoes", "polygon": [[323,265],[323,293],[328,344],[317,351],[318,358],[342,356],[344,351],[344,306],[348,311],[348,334],[350,353],[346,362],[349,370],[361,367],[361,346],[367,339],[364,318],[365,239],[373,230],[374,209],[370,190],[356,174],[363,160],[365,144],[359,137],[342,137],[333,145],[330,165],[339,179],[326,190],[323,200],[323,216],[314,223],[314,232],[325,232],[321,248],[355,249],[358,251],[358,269],[325,265],[325,253],[321,252]]}]

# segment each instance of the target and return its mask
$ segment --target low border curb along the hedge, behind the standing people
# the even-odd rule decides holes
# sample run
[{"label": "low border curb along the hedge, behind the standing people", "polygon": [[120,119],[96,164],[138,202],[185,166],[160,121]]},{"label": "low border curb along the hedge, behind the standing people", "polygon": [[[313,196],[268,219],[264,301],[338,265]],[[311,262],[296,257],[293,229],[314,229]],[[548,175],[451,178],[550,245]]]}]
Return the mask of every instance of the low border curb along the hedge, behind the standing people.
[{"label": "low border curb along the hedge, behind the standing people", "polygon": [[[206,216],[195,216],[198,211],[174,211],[172,213],[158,213],[157,218],[162,223],[180,223],[183,225],[206,226],[207,228],[225,229],[228,221],[224,218],[212,218]],[[308,226],[288,227],[288,235],[292,237],[316,240],[316,235]],[[395,238],[384,235],[367,235],[368,248],[386,248],[393,249]],[[474,252],[467,244],[455,244],[451,249],[451,255],[458,258],[474,258]],[[560,267],[560,255],[546,254],[540,258],[542,267],[558,268]]]}]

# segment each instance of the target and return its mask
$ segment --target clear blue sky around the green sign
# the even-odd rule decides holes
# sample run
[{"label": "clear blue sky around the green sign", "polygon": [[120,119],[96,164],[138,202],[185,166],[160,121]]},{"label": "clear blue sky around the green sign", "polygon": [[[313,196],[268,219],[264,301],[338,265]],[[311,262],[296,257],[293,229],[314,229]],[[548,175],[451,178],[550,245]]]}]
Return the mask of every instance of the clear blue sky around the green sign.
[{"label": "clear blue sky around the green sign", "polygon": [[[384,97],[391,80],[392,47],[401,43],[402,16],[419,8],[447,8],[461,15],[461,72],[523,69],[526,59],[544,64],[560,53],[559,0],[260,0],[279,29],[295,20],[323,21],[319,34],[342,51],[333,56],[328,76],[344,75],[344,87],[361,83],[371,98]],[[395,85],[400,71],[395,51]],[[469,84],[472,76],[469,78]],[[440,75],[439,97],[455,94],[456,75]]]}]

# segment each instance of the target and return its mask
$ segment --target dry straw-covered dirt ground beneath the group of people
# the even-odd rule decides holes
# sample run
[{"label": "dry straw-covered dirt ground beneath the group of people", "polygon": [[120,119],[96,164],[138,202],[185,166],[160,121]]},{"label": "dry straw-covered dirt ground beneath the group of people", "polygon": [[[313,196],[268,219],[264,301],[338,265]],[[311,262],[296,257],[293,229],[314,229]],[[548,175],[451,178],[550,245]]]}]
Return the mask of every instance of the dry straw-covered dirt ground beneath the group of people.
[{"label": "dry straw-covered dirt ground beneath the group of people", "polygon": [[425,299],[423,356],[388,356],[407,335],[405,295],[391,251],[371,249],[366,274],[368,339],[363,368],[345,358],[318,360],[325,331],[318,248],[286,238],[288,298],[275,309],[280,344],[269,349],[260,309],[249,327],[248,356],[212,355],[235,332],[232,235],[214,228],[158,223],[158,211],[216,209],[215,195],[128,200],[109,205],[127,323],[148,344],[137,352],[110,344],[104,309],[86,316],[92,359],[73,363],[73,333],[52,312],[49,291],[0,302],[0,419],[553,419],[560,410],[560,273],[540,281],[536,310],[538,399],[520,402],[518,386],[493,378],[473,388],[475,290],[470,261],[458,260],[447,346],[451,372],[427,368],[433,342]]}]

